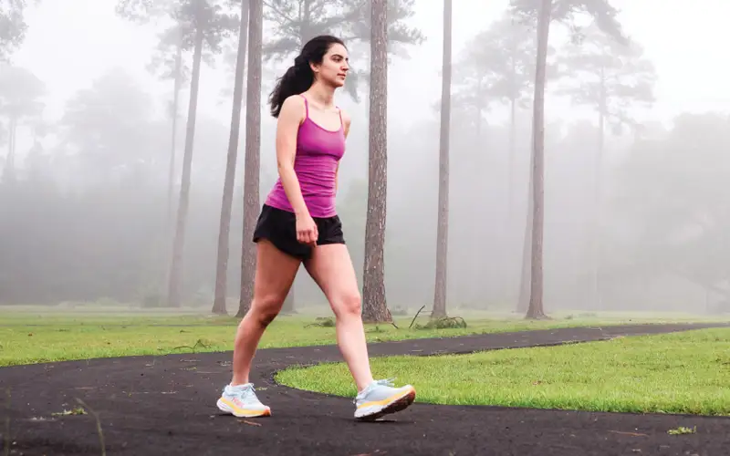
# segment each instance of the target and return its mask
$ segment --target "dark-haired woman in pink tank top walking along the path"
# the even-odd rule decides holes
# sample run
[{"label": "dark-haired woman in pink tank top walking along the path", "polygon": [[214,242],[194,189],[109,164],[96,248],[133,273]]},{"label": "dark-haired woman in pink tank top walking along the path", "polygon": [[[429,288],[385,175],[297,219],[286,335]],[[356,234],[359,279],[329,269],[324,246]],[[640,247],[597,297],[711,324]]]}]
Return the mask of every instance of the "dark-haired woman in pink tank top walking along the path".
[{"label": "dark-haired woman in pink tank top walking along the path", "polygon": [[277,81],[269,102],[276,117],[279,179],[268,194],[254,232],[254,299],[235,336],[233,378],[218,408],[236,417],[268,416],[248,375],[266,326],[281,310],[303,263],[337,318],[340,352],[358,387],[355,418],[376,420],[415,399],[410,385],[374,381],[360,316],[360,290],[335,210],[339,160],[349,116],[333,104],[345,84],[348,51],[339,38],[317,36]]}]

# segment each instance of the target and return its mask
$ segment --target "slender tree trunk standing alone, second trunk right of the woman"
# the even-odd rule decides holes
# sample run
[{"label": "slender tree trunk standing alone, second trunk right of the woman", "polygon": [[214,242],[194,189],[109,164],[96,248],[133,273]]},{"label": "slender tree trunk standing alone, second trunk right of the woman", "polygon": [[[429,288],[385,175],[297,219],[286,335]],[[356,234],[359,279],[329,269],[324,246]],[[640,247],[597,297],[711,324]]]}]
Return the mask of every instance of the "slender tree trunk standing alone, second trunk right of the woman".
[{"label": "slender tree trunk standing alone, second trunk right of the woman", "polygon": [[[446,316],[449,250],[449,133],[451,130],[452,1],[443,0],[443,77],[441,83],[441,144],[439,147],[439,209],[436,234],[436,283],[431,317]],[[481,112],[479,113],[481,118]],[[478,120],[477,120],[478,121]]]}]

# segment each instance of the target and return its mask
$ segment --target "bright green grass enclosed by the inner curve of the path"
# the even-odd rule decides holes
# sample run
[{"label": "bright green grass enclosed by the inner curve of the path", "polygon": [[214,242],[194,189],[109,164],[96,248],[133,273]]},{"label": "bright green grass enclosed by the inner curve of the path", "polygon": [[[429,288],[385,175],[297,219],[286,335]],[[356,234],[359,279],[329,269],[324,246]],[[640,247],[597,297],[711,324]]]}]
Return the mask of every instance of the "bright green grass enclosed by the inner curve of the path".
[{"label": "bright green grass enclosed by the inner curve of the path", "polygon": [[[730,415],[728,328],[371,363],[376,378],[411,383],[422,402]],[[276,379],[298,389],[356,393],[342,363],[289,368]]]}]

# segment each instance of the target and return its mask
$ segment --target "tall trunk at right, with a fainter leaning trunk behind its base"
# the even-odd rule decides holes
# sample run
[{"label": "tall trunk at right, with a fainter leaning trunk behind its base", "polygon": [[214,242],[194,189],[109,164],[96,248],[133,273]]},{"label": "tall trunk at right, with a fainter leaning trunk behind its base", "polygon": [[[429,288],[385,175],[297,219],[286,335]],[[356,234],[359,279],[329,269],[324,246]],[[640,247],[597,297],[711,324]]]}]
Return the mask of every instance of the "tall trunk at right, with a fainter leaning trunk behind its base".
[{"label": "tall trunk at right, with a fainter leaning trunk behind its base", "polygon": [[537,21],[537,71],[535,75],[535,106],[533,109],[533,214],[532,268],[530,271],[530,303],[527,318],[547,318],[543,310],[542,241],[544,224],[545,184],[545,73],[547,67],[547,38],[550,30],[552,0],[543,0]]}]

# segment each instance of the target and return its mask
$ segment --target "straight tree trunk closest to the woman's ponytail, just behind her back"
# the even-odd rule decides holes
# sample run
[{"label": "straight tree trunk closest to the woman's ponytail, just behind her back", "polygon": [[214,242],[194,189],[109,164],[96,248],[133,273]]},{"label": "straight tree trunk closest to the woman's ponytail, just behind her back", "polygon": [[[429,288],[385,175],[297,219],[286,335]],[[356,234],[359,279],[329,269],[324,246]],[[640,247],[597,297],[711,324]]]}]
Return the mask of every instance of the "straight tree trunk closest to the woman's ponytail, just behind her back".
[{"label": "straight tree trunk closest to the woman's ponytail, just behind her back", "polygon": [[254,298],[256,250],[252,241],[259,212],[258,185],[261,154],[262,0],[249,2],[248,77],[245,97],[244,237],[241,249],[241,300],[236,316],[243,317]]}]

